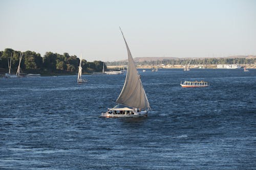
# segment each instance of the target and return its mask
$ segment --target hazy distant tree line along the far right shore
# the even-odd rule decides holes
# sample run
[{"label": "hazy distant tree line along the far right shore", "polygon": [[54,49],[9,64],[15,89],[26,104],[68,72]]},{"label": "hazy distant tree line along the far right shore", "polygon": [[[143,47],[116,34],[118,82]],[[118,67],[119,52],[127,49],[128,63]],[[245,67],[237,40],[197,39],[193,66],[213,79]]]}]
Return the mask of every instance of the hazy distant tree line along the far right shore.
[{"label": "hazy distant tree line along the far right shore", "polygon": [[[191,65],[208,65],[208,64],[255,64],[256,58],[204,58],[204,59],[172,59],[163,61],[143,61],[136,62],[137,65],[185,65],[190,62]],[[127,62],[106,62],[107,65],[127,65]]]}]

